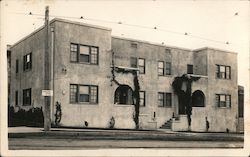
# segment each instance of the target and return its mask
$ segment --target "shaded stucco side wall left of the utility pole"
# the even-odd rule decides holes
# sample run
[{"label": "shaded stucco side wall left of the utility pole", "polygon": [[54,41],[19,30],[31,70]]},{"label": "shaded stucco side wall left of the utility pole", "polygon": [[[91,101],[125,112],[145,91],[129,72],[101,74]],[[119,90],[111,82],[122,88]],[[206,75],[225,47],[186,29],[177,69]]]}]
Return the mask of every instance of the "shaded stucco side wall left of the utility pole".
[{"label": "shaded stucco side wall left of the utility pole", "polygon": [[[23,70],[23,57],[32,53],[32,69]],[[11,47],[11,91],[10,105],[15,105],[15,91],[18,90],[18,106],[28,110],[43,106],[42,88],[44,84],[44,30],[30,35]],[[16,59],[19,60],[19,72],[16,73]],[[31,106],[23,106],[23,89],[31,88]],[[16,107],[18,110],[19,107]]]}]

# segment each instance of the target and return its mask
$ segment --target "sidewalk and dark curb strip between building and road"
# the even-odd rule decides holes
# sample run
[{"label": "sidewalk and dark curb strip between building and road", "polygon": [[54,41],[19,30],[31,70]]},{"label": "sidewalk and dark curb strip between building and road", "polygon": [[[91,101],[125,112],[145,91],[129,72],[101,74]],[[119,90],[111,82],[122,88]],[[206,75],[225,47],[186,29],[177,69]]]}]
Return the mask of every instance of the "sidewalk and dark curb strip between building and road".
[{"label": "sidewalk and dark curb strip between building and road", "polygon": [[196,133],[173,132],[169,130],[106,130],[106,129],[69,129],[9,127],[9,138],[64,138],[86,140],[158,140],[158,141],[244,141],[244,134],[236,133]]}]

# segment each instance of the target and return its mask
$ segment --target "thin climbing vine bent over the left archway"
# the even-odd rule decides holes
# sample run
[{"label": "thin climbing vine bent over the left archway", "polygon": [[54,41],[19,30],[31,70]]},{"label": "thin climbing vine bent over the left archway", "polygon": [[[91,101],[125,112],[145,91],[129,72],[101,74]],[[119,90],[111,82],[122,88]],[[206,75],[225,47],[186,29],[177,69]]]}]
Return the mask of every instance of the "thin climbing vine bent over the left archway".
[{"label": "thin climbing vine bent over the left archway", "polygon": [[139,129],[139,113],[140,113],[140,84],[139,84],[137,71],[134,69],[124,69],[124,68],[115,67],[114,66],[114,51],[112,51],[111,65],[112,65],[111,66],[111,73],[112,73],[111,83],[114,82],[118,86],[121,85],[116,80],[115,72],[123,73],[123,74],[131,73],[134,76],[133,82],[134,82],[135,89],[133,91],[133,97],[135,98],[135,102],[134,102],[135,113],[133,114],[133,120],[135,122],[135,128],[138,130]]}]

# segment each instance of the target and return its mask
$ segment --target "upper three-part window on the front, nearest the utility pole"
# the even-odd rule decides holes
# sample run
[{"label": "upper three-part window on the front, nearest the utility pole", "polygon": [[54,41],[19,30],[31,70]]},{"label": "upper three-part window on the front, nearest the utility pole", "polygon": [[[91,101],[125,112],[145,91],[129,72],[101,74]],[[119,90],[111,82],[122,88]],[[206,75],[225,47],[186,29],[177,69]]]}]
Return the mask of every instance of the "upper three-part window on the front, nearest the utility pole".
[{"label": "upper three-part window on the front, nearest the utility pole", "polygon": [[98,64],[99,48],[88,45],[70,44],[70,61]]}]

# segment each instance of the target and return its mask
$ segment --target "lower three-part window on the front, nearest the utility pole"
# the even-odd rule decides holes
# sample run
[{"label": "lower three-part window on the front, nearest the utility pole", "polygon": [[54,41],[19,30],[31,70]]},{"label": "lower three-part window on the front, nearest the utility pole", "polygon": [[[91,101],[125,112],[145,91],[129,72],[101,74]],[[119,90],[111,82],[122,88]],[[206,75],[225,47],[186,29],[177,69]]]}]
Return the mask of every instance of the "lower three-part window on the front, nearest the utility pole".
[{"label": "lower three-part window on the front, nearest the utility pole", "polygon": [[70,85],[71,103],[98,103],[98,86],[93,85]]}]

